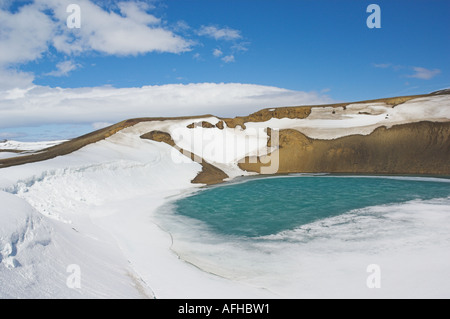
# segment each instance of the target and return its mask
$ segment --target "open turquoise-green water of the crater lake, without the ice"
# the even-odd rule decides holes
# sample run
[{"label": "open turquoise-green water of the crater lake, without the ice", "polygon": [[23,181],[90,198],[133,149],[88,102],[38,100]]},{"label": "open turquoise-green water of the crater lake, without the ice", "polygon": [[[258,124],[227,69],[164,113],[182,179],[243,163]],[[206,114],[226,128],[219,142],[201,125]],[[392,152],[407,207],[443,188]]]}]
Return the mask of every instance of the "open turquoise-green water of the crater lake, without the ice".
[{"label": "open turquoise-green water of the crater lake, without the ice", "polygon": [[251,179],[202,190],[175,202],[175,212],[214,232],[246,237],[276,234],[368,206],[450,196],[433,178],[299,176]]}]

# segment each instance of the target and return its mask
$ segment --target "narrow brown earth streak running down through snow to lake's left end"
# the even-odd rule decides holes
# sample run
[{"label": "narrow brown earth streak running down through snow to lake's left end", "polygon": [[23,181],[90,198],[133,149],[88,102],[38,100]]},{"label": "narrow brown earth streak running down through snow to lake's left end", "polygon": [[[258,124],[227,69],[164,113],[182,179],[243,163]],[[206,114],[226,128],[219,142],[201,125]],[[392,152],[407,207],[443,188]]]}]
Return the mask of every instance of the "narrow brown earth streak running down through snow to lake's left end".
[{"label": "narrow brown earth streak running down through snow to lake's left end", "polygon": [[[141,138],[149,139],[156,142],[163,142],[169,144],[172,147],[176,146],[170,134],[166,132],[152,131],[143,134]],[[179,147],[177,147],[177,149],[181,152],[181,154],[189,157],[191,160],[196,161],[202,165],[202,171],[198,173],[198,175],[191,181],[191,183],[212,185],[222,183],[225,178],[228,178],[228,175],[225,174],[222,170],[218,169],[214,165],[211,165],[202,158],[199,158],[195,154],[183,150]]]}]

